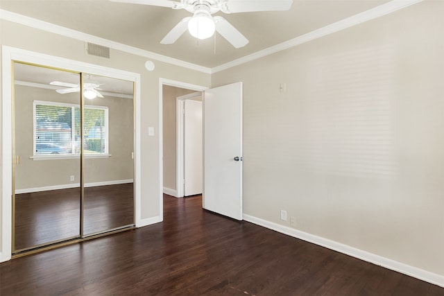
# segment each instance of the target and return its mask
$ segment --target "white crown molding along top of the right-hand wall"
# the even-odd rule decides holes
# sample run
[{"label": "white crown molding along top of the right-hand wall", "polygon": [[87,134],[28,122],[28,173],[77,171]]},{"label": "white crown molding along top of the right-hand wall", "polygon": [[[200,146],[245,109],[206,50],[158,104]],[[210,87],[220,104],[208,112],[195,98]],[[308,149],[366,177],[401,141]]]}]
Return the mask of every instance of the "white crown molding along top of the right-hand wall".
[{"label": "white crown molding along top of the right-hand wall", "polygon": [[280,51],[284,51],[286,49],[291,49],[292,47],[298,46],[300,44],[304,44],[311,40],[316,40],[318,38],[324,37],[326,35],[330,35],[332,33],[336,33],[338,31],[342,31],[346,28],[350,28],[352,26],[356,26],[357,24],[364,23],[365,21],[370,21],[371,19],[376,19],[377,17],[382,17],[384,15],[388,15],[391,12],[395,12],[402,8],[406,8],[407,6],[411,6],[413,4],[422,2],[423,0],[393,0],[387,3],[382,4],[381,6],[377,6],[370,10],[366,10],[357,15],[353,15],[352,17],[348,17],[346,19],[342,19],[341,21],[336,21],[336,23],[324,26],[322,28],[318,28],[315,31],[311,31],[307,34],[300,35],[292,40],[282,42],[275,46],[268,47],[262,51],[257,51],[256,53],[252,53],[250,55],[246,55],[243,58],[239,58],[237,60],[232,60],[231,62],[221,64],[220,66],[214,67],[211,69],[211,73],[217,73],[219,71],[223,71],[226,69],[230,69],[232,67],[239,66],[240,64],[245,64],[246,62],[251,62],[253,60],[257,60],[259,58],[264,58],[267,55],[271,55],[273,53],[278,53]]}]

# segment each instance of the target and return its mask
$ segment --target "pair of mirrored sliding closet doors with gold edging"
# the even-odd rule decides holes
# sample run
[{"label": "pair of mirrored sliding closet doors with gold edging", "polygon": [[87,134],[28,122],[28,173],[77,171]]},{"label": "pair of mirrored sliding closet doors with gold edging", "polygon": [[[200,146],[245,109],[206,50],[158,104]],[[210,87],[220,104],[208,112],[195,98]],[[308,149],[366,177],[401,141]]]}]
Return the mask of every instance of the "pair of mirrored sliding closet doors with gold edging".
[{"label": "pair of mirrored sliding closet doors with gold edging", "polygon": [[133,82],[20,62],[13,77],[12,252],[133,227]]}]

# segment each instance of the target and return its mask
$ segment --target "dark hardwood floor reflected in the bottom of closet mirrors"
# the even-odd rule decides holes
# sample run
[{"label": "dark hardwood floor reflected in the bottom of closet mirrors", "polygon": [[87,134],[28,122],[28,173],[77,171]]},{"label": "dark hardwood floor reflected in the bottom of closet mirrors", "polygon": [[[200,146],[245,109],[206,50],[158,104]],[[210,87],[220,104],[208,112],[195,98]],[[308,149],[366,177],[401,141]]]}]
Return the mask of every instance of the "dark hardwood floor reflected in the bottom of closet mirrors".
[{"label": "dark hardwood floor reflected in the bottom of closet mirrors", "polygon": [[[84,233],[134,223],[133,183],[85,188]],[[15,250],[80,233],[80,188],[15,195]]]}]

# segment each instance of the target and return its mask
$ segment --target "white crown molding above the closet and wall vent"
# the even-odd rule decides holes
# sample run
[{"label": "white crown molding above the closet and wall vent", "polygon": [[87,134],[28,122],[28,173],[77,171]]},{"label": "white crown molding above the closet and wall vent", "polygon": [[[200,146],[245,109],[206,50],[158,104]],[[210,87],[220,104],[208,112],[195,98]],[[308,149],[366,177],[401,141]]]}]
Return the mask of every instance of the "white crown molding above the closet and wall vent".
[{"label": "white crown molding above the closet and wall vent", "polygon": [[211,73],[211,69],[207,67],[200,66],[198,64],[193,64],[191,62],[185,62],[182,60],[178,60],[175,58],[170,58],[167,55],[160,55],[158,53],[153,53],[151,51],[145,51],[144,49],[138,49],[137,47],[129,46],[126,44],[122,44],[119,42],[114,42],[111,40],[107,40],[101,37],[96,37],[94,35],[89,35],[86,33],[82,33],[80,31],[72,30],[70,28],[65,28],[62,26],[58,26],[56,24],[51,24],[46,21],[41,21],[40,19],[33,19],[32,17],[26,17],[24,15],[19,15],[15,12],[10,12],[8,10],[0,9],[0,19],[4,19],[6,21],[12,21],[17,24],[22,24],[24,26],[29,26],[32,28],[37,28],[42,31],[46,31],[49,33],[54,33],[58,35],[62,35],[65,37],[70,37],[76,40],[80,40],[83,42],[91,42],[95,44],[99,44],[102,46],[107,46],[110,49],[117,49],[118,51],[123,51],[126,53],[131,53],[134,55],[139,55],[144,58],[149,58],[153,60],[157,60],[160,62],[166,62],[168,64],[173,64],[179,67],[184,67],[187,69],[200,71],[203,73]]}]

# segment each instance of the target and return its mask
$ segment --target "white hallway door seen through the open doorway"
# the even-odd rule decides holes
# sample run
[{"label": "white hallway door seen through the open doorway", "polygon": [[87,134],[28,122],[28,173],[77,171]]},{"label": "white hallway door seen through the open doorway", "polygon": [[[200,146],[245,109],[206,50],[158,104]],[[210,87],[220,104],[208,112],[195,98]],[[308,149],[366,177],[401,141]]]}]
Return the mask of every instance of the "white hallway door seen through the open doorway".
[{"label": "white hallway door seen through the open doorway", "polygon": [[185,196],[202,193],[202,102],[185,100],[184,180]]}]

